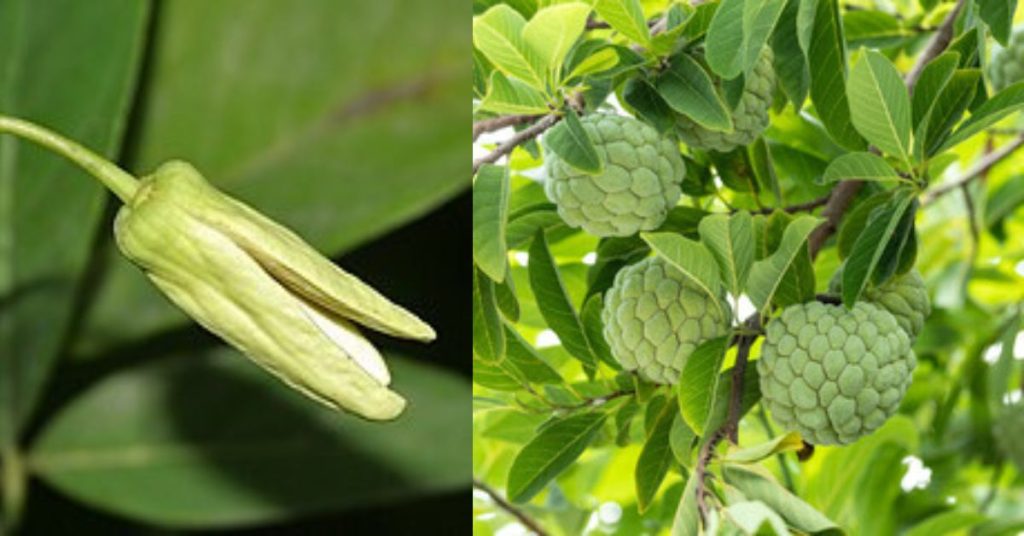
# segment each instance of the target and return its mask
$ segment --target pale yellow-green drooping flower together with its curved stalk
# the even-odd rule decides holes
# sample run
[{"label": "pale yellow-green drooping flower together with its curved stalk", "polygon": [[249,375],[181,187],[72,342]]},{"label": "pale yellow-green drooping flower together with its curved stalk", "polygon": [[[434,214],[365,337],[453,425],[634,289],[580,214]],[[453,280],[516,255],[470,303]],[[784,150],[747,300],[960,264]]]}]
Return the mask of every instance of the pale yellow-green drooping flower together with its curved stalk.
[{"label": "pale yellow-green drooping flower together with its curved stalk", "polygon": [[355,324],[403,338],[434,331],[342,271],[291,231],[228,197],[191,165],[169,162],[140,180],[52,132],[0,116],[80,164],[124,207],[122,253],[201,325],[306,396],[368,419],[399,415],[387,365]]}]

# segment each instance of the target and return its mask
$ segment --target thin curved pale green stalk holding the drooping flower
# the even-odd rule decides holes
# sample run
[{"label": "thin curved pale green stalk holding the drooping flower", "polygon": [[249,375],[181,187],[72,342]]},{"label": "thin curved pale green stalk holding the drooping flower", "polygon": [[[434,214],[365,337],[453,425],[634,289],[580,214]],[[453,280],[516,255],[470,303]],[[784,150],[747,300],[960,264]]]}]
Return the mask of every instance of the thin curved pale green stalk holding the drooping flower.
[{"label": "thin curved pale green stalk holding the drooping flower", "polygon": [[124,203],[138,190],[138,180],[113,162],[35,123],[0,115],[0,133],[3,132],[35,141],[78,164]]}]

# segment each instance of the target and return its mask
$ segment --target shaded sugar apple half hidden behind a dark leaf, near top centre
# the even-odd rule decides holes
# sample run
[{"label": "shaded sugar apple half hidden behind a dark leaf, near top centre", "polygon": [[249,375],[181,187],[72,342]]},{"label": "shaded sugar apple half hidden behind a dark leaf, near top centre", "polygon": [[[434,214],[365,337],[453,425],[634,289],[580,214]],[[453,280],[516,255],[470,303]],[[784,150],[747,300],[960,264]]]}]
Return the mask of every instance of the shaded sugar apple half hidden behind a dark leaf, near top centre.
[{"label": "shaded sugar apple half hidden behind a dark leaf, near top centre", "polygon": [[728,153],[757,139],[768,126],[768,109],[771,108],[775,89],[775,71],[771,67],[773,59],[771,48],[764,47],[754,68],[746,74],[743,93],[732,109],[732,131],[710,130],[679,115],[676,130],[683,142],[694,149]]}]

